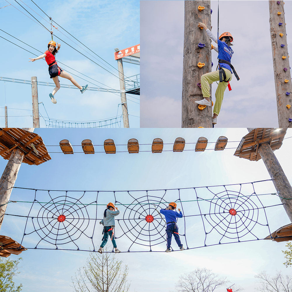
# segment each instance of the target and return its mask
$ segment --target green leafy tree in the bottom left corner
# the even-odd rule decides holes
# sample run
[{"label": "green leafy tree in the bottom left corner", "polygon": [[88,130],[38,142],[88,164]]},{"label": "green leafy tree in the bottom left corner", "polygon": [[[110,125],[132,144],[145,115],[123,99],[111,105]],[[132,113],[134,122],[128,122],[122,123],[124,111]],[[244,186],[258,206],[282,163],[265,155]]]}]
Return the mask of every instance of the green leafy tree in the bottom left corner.
[{"label": "green leafy tree in the bottom left corner", "polygon": [[8,260],[0,257],[0,292],[21,291],[22,284],[14,288],[15,284],[12,281],[13,276],[20,273],[16,272],[19,269],[19,260],[22,260],[22,258],[18,260]]}]

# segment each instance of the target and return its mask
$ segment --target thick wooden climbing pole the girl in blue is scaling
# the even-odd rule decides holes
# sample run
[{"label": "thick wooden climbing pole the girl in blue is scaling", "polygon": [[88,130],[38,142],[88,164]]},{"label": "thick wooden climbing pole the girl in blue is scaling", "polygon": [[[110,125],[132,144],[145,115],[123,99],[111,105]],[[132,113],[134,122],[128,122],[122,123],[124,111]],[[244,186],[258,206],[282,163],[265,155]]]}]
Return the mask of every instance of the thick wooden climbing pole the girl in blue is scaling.
[{"label": "thick wooden climbing pole the girl in blue is scaling", "polygon": [[[199,11],[199,6],[205,8]],[[185,1],[182,128],[212,128],[212,107],[207,106],[201,111],[195,103],[203,99],[202,91],[197,85],[201,82],[201,76],[212,70],[210,38],[205,29],[197,26],[199,22],[211,29],[210,1]],[[205,46],[199,48],[199,43]],[[204,67],[199,68],[199,62],[204,63]],[[212,96],[211,86],[210,94]]]}]

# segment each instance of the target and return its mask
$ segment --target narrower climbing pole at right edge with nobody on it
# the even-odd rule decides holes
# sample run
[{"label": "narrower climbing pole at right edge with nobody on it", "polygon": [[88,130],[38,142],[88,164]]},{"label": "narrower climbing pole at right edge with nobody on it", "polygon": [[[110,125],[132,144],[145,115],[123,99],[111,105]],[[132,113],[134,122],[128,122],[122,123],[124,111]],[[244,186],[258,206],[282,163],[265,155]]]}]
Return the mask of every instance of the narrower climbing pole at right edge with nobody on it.
[{"label": "narrower climbing pole at right edge with nobody on it", "polygon": [[292,105],[292,84],[284,1],[269,1],[269,8],[279,127],[291,128],[292,122],[289,122],[289,118],[292,119],[292,107],[289,109],[287,105]]}]

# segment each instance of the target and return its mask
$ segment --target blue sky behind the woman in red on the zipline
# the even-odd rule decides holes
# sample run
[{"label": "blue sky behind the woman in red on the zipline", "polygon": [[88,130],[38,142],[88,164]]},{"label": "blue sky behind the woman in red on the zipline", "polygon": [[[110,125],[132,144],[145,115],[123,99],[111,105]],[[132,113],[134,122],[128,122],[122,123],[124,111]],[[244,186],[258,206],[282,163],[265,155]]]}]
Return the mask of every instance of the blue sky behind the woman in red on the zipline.
[{"label": "blue sky behind the woman in red on the zipline", "polygon": [[[54,40],[61,43],[61,48],[56,55],[56,60],[65,65],[79,71],[82,74],[100,82],[93,81],[88,77],[74,72],[74,70],[65,67],[59,63],[59,66],[65,71],[76,74],[74,79],[81,85],[89,84],[92,87],[114,88],[120,89],[119,78],[117,77],[117,61],[114,60],[114,49],[124,49],[140,43],[140,2],[133,1],[34,1],[47,15],[63,27],[67,32],[72,34],[76,39],[81,41],[85,46],[99,55],[110,65],[102,61],[72,36],[63,31],[58,25],[54,24],[60,31],[53,28]],[[6,5],[10,6],[4,7]],[[30,0],[18,1],[27,11],[29,11],[37,20],[39,20],[47,29],[51,30],[48,23],[48,17]],[[2,58],[0,76],[31,80],[32,76],[36,76],[38,81],[53,82],[48,74],[48,66],[44,60],[36,62],[28,62],[29,58],[35,58],[35,55],[23,50],[22,48],[41,55],[47,50],[47,44],[51,40],[51,34],[43,26],[38,25],[34,18],[29,19],[23,13],[30,16],[19,4],[14,0],[1,0],[0,9],[1,44],[5,51],[5,58]],[[34,11],[32,11],[32,8]],[[43,17],[43,18],[41,18]],[[15,38],[36,48],[42,53],[24,45]],[[64,33],[65,36],[62,34]],[[67,38],[69,37],[69,39]],[[70,46],[60,41],[60,37]],[[11,44],[9,41],[17,44]],[[76,44],[74,44],[74,42]],[[81,46],[81,48],[79,46]],[[90,53],[83,50],[83,48]],[[98,63],[109,72],[96,65],[94,62],[81,55],[78,51],[86,55],[88,58]],[[103,64],[105,65],[103,65]],[[140,73],[140,66],[129,63],[123,63],[124,74],[127,77]],[[106,67],[107,66],[107,67]],[[112,67],[111,67],[112,66]],[[113,70],[113,71],[112,71]],[[86,79],[86,81],[81,78]],[[89,83],[90,81],[93,84]],[[61,84],[71,84],[67,79],[60,78]],[[102,85],[105,84],[105,85]],[[57,104],[53,104],[49,98],[49,93],[54,87],[38,86],[39,111],[41,115],[51,119],[67,120],[67,121],[93,121],[105,120],[108,118],[121,115],[121,97],[120,94],[86,91],[82,95],[77,89],[61,88],[55,95]],[[31,127],[32,126],[32,95],[31,86],[29,84],[20,84],[15,82],[0,81],[1,96],[1,125],[5,125],[4,106],[8,107],[8,126],[9,127]],[[5,99],[6,97],[6,99]],[[140,126],[140,96],[127,95],[128,113],[130,127]],[[138,99],[137,99],[138,98]],[[6,100],[6,101],[5,101]],[[45,107],[45,108],[44,108]],[[45,111],[46,109],[46,111]],[[44,119],[40,118],[41,127],[46,127]],[[116,125],[117,126],[117,125]],[[123,127],[123,121],[121,121]]]}]

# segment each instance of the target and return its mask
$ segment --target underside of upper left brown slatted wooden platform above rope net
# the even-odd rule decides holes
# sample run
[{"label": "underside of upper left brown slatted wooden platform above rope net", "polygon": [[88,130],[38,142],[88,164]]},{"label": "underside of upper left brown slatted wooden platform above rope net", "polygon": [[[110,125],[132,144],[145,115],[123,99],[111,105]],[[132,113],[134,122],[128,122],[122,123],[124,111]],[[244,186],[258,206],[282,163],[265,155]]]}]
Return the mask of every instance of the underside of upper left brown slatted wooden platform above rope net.
[{"label": "underside of upper left brown slatted wooden platform above rope net", "polygon": [[[34,151],[32,145],[37,150]],[[24,163],[39,165],[51,159],[42,138],[20,128],[0,128],[0,155],[9,159],[11,151],[16,147],[25,152]]]}]

